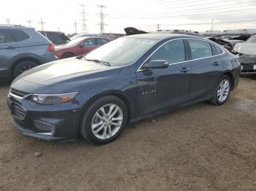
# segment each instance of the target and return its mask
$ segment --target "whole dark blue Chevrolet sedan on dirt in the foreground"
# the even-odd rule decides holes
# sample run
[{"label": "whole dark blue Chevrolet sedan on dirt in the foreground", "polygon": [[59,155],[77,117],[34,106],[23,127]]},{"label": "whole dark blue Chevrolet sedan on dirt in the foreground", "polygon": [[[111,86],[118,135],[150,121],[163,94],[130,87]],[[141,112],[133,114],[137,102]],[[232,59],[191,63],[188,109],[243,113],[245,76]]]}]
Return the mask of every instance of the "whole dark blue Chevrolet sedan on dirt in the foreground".
[{"label": "whole dark blue Chevrolet sedan on dirt in the foreground", "polygon": [[7,101],[24,135],[61,140],[80,134],[106,144],[126,122],[201,101],[225,104],[240,71],[235,55],[207,39],[139,34],[26,71],[12,82]]}]

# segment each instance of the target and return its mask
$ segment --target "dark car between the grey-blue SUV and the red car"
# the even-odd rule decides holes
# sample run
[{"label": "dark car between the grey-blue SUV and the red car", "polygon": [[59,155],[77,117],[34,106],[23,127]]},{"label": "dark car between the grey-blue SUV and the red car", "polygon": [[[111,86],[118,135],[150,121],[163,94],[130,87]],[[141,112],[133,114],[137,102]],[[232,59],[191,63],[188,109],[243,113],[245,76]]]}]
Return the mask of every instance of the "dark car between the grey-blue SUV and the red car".
[{"label": "dark car between the grey-blue SUV and the red car", "polygon": [[39,31],[40,34],[48,38],[53,44],[66,44],[70,41],[69,37],[67,37],[62,32],[57,31]]}]

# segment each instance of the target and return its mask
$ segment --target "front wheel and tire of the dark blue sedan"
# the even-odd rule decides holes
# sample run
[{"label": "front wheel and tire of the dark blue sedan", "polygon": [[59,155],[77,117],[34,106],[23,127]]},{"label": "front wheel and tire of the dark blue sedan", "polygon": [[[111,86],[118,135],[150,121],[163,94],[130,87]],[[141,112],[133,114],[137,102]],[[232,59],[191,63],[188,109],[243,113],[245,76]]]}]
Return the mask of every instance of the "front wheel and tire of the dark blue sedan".
[{"label": "front wheel and tire of the dark blue sedan", "polygon": [[117,139],[126,123],[127,106],[124,101],[116,96],[107,95],[94,101],[83,113],[80,134],[90,143],[108,144]]}]

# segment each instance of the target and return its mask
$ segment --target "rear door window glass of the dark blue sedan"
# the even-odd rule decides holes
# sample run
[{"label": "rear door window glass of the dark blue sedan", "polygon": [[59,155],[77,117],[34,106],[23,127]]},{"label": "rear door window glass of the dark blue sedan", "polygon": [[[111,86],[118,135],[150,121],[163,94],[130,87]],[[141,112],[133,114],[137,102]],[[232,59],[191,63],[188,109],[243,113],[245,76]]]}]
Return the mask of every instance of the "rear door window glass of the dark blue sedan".
[{"label": "rear door window glass of the dark blue sedan", "polygon": [[212,56],[211,44],[200,40],[188,40],[192,59]]}]

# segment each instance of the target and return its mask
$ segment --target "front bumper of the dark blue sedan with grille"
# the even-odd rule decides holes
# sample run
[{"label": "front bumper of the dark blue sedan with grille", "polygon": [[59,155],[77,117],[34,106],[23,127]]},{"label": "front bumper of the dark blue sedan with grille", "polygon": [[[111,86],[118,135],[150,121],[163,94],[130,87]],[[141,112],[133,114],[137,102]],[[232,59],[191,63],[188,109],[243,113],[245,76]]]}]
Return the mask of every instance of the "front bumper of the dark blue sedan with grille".
[{"label": "front bumper of the dark blue sedan with grille", "polygon": [[48,141],[73,140],[78,137],[78,104],[69,102],[46,106],[10,95],[7,104],[13,125],[26,136]]}]

